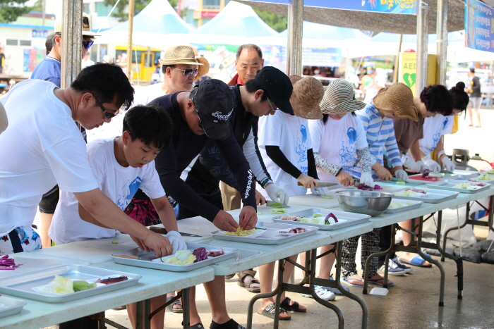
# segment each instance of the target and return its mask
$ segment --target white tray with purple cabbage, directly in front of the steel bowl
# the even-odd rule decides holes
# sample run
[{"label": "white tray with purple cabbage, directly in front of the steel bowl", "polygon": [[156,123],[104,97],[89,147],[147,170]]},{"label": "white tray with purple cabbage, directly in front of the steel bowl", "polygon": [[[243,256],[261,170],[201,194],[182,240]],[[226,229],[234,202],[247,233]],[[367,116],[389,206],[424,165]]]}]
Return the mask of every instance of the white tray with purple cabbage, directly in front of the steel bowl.
[{"label": "white tray with purple cabbage, directly in front of the steel bowl", "polygon": [[294,221],[286,221],[284,219],[280,219],[282,216],[273,217],[272,220],[275,223],[284,223],[284,224],[289,224],[291,226],[298,226],[298,225],[315,226],[319,230],[338,230],[339,228],[346,228],[347,226],[365,223],[370,218],[369,215],[364,215],[362,213],[349,213],[347,211],[337,211],[332,209],[319,209],[319,208],[311,208],[303,211],[296,211],[294,213],[287,213],[287,215],[311,218],[314,213],[320,213],[321,215],[323,215],[323,217],[320,217],[322,218],[323,221],[324,218],[326,218],[326,216],[329,213],[333,213],[333,215],[335,215],[336,218],[338,218],[338,223],[331,225],[324,225],[324,224],[294,222]]}]

